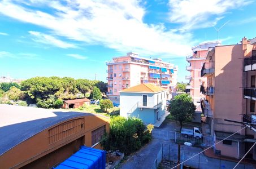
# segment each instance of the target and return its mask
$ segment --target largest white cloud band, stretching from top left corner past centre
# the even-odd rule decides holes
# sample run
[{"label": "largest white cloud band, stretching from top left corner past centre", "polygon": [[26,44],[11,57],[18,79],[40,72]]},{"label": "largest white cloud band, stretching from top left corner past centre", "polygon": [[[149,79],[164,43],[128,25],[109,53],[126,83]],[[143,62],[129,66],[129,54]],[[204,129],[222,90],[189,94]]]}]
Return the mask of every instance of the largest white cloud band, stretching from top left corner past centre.
[{"label": "largest white cloud band, stretching from top left corner past centre", "polygon": [[[27,5],[22,5],[24,2]],[[40,11],[38,6],[48,10]],[[38,9],[34,10],[35,7]],[[5,0],[0,3],[0,12],[23,22],[44,26],[55,35],[84,44],[114,48],[122,54],[136,51],[141,55],[184,56],[193,46],[190,33],[175,33],[167,30],[164,24],[145,24],[145,8],[136,0],[31,0],[17,3]],[[45,35],[38,36],[45,40]]]}]

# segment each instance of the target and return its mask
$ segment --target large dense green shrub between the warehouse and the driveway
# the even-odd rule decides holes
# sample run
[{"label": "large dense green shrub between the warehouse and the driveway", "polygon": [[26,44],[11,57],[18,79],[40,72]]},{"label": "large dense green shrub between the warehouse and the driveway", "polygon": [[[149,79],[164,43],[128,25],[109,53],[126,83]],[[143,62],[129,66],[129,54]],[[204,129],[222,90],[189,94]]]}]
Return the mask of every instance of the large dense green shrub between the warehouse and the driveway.
[{"label": "large dense green shrub between the warehouse and the driveway", "polygon": [[151,140],[151,134],[138,118],[111,118],[110,133],[102,137],[101,144],[105,150],[119,150],[131,154]]}]

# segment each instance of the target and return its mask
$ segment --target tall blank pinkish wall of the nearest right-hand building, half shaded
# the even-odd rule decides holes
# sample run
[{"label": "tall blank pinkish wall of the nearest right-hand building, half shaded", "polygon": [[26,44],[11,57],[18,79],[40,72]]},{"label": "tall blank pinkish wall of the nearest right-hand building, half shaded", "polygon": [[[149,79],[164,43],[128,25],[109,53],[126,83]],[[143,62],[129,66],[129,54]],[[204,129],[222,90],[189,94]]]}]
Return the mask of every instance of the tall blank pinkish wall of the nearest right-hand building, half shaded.
[{"label": "tall blank pinkish wall of the nearest right-hand building, half shaded", "polygon": [[242,45],[215,47],[214,122],[216,131],[236,132],[240,124],[224,119],[241,121],[242,113]]}]

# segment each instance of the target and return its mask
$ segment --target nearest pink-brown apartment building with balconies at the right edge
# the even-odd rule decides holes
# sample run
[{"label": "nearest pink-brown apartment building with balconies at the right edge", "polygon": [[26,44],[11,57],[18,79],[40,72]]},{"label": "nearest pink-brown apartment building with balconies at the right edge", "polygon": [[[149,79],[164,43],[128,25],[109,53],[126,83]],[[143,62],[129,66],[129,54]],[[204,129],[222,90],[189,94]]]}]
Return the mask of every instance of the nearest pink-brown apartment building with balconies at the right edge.
[{"label": "nearest pink-brown apartment building with balconies at the right edge", "polygon": [[[245,127],[238,122],[256,124],[256,38],[242,38],[237,45],[209,48],[201,77],[206,77],[206,99],[201,100],[202,112],[209,125],[209,134],[217,143]],[[216,154],[242,158],[256,141],[255,132],[245,128],[216,144]],[[256,159],[256,147],[246,158]]]}]

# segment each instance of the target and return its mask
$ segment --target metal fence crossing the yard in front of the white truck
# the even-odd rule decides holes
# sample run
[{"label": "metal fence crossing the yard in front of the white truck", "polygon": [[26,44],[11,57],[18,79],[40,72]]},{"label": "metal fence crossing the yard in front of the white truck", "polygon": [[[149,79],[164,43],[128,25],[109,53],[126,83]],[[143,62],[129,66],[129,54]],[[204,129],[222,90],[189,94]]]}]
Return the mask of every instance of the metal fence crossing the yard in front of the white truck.
[{"label": "metal fence crossing the yard in front of the white truck", "polygon": [[183,144],[185,142],[189,142],[192,143],[192,145],[203,147],[213,145],[213,137],[210,136],[202,136],[201,139],[196,139],[194,136],[184,135],[181,134],[180,132],[157,129],[154,129],[152,131],[152,136],[154,139],[174,141],[175,143]]}]

